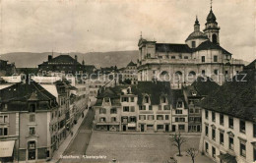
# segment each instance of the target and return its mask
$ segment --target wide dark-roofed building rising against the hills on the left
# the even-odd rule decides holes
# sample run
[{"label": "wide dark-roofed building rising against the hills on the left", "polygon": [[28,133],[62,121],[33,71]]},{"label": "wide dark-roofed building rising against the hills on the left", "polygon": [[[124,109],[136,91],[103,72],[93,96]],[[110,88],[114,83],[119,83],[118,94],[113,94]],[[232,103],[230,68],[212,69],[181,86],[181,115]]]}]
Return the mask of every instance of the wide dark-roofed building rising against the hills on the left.
[{"label": "wide dark-roofed building rising against the hills on the left", "polygon": [[70,55],[59,55],[53,58],[53,55],[48,56],[48,61],[38,65],[38,73],[40,75],[83,75],[92,74],[96,70],[93,65],[85,65],[83,60],[82,64],[78,62],[78,57],[72,58]]}]

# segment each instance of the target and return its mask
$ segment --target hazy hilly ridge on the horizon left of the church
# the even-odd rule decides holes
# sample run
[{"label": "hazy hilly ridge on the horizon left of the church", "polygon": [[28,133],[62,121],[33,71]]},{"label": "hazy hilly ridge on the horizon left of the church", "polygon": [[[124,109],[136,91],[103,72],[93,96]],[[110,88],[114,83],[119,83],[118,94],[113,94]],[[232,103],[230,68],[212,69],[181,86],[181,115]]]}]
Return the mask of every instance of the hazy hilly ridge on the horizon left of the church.
[{"label": "hazy hilly ridge on the horizon left of the church", "polygon": [[[86,65],[95,65],[96,68],[117,66],[118,68],[125,67],[130,61],[137,62],[138,51],[111,51],[111,52],[90,52],[90,53],[56,53],[53,52],[53,57],[58,55],[71,55],[73,58],[78,56],[78,61],[82,63],[85,60]],[[1,60],[8,60],[9,63],[15,63],[17,68],[37,68],[37,65],[47,61],[48,55],[52,52],[32,53],[32,52],[13,52],[0,55]]]}]

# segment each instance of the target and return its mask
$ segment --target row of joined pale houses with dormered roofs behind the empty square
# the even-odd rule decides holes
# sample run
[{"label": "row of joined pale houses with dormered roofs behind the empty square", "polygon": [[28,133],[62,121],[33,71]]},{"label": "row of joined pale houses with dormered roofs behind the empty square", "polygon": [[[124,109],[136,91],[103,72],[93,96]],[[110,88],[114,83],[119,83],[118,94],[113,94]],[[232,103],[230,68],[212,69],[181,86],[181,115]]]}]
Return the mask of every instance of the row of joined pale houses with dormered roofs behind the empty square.
[{"label": "row of joined pale houses with dormered roofs behind the empty square", "polygon": [[[166,81],[103,87],[94,109],[96,130],[187,132],[188,111],[184,95],[180,89],[178,92],[170,89]],[[176,122],[173,116],[186,120]]]}]

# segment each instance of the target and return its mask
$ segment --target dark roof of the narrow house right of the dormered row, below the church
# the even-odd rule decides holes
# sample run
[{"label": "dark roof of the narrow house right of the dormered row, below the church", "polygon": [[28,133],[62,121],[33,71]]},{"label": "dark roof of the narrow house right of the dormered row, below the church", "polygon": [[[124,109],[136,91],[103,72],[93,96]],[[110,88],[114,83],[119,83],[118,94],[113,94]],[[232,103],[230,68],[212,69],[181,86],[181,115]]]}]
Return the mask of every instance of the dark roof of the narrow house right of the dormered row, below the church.
[{"label": "dark roof of the narrow house right of the dormered row, below the church", "polygon": [[209,77],[206,77],[206,78],[198,77],[196,81],[194,81],[191,84],[191,86],[194,86],[194,88],[199,93],[199,95],[202,95],[202,96],[207,96],[212,91],[220,87],[220,85],[217,82],[213,81]]}]

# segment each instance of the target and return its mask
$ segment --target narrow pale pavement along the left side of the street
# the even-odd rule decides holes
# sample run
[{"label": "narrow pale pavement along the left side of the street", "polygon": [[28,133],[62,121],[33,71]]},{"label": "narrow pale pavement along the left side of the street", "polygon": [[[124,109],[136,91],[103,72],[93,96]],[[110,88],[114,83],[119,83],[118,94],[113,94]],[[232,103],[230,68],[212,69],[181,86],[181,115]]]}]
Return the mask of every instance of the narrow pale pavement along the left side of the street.
[{"label": "narrow pale pavement along the left side of the street", "polygon": [[75,138],[75,136],[77,136],[80,126],[85,121],[85,119],[87,119],[87,114],[88,114],[88,109],[85,109],[85,111],[84,111],[85,117],[79,118],[79,120],[77,121],[77,124],[75,126],[73,126],[73,128],[72,128],[73,136],[69,135],[66,137],[66,139],[59,146],[58,150],[54,151],[53,157],[49,162],[58,162],[59,161],[60,156],[64,154],[64,151],[68,148],[71,141]]}]

